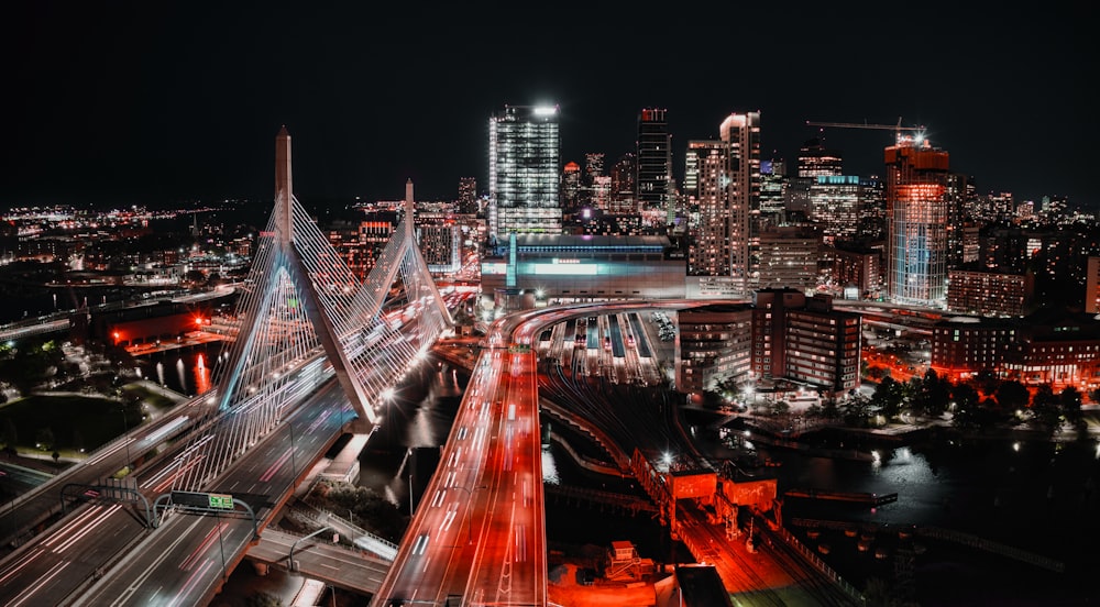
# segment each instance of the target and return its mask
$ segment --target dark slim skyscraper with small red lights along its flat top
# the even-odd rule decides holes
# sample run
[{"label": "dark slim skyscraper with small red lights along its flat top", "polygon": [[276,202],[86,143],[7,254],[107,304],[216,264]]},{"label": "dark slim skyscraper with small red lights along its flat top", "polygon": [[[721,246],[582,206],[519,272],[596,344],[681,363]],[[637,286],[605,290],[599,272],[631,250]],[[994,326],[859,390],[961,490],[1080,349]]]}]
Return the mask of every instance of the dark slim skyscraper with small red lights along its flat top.
[{"label": "dark slim skyscraper with small red lights along its flat top", "polygon": [[642,211],[664,211],[672,223],[672,135],[668,110],[647,108],[638,114],[636,191]]}]

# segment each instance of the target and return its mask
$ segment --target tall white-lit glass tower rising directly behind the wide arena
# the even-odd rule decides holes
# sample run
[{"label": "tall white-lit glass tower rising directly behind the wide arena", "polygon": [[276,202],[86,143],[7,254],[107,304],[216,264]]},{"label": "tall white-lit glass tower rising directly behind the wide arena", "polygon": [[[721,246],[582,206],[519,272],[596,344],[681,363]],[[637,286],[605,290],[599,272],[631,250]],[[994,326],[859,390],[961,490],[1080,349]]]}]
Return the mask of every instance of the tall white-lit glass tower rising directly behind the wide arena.
[{"label": "tall white-lit glass tower rising directly behind the wide arena", "polygon": [[488,236],[561,233],[559,109],[505,106],[488,121]]}]

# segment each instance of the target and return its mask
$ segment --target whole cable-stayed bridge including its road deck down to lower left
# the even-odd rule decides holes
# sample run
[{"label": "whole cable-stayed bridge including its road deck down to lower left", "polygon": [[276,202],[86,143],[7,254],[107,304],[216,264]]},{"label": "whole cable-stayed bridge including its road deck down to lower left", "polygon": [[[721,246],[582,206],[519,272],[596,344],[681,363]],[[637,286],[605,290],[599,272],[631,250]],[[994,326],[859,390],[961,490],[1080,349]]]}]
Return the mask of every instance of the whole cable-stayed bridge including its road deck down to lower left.
[{"label": "whole cable-stayed bridge including its road deck down to lower left", "polygon": [[0,562],[0,604],[212,598],[302,472],[342,432],[370,435],[388,388],[452,324],[416,243],[411,185],[402,223],[359,280],[294,197],[282,130],[275,208],[233,323],[213,389],[12,503],[13,528],[46,520],[64,484],[69,516],[20,533]]}]

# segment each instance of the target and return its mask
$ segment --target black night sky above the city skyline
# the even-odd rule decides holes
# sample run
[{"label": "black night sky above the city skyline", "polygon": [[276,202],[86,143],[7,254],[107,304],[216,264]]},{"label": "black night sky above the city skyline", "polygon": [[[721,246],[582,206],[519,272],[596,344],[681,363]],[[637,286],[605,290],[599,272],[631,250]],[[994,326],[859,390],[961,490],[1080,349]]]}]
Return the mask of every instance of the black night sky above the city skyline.
[{"label": "black night sky above the city skyline", "polygon": [[[760,111],[765,157],[792,165],[806,120],[901,117],[979,192],[1100,206],[1090,3],[708,4],[6,3],[0,207],[271,200],[283,124],[304,202],[400,199],[408,178],[453,199],[460,177],[486,189],[488,117],[543,102],[563,162],[609,168],[644,107],[669,111],[678,177],[732,112]],[[866,176],[893,133],[825,136]]]}]

